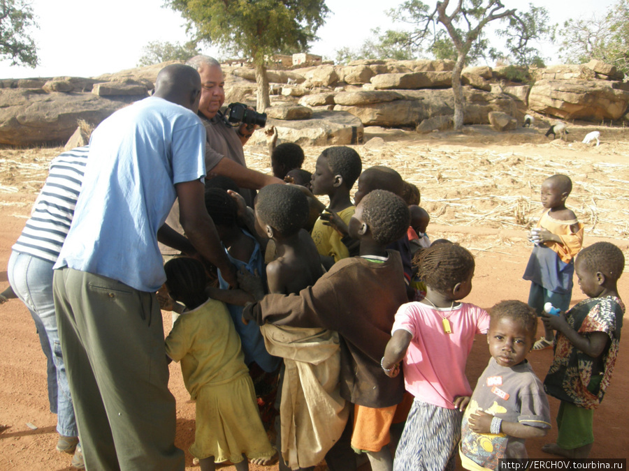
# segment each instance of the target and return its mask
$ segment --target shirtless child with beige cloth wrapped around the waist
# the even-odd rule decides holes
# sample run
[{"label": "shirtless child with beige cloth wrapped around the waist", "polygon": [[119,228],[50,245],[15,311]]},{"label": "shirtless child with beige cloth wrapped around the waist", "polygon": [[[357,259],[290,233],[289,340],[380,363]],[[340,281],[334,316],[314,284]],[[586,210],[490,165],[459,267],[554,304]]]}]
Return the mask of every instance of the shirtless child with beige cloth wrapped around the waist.
[{"label": "shirtless child with beige cloth wrapped around the waist", "polygon": [[[323,275],[317,247],[301,228],[308,212],[308,198],[294,186],[269,185],[256,197],[257,230],[276,247],[277,258],[266,267],[270,293],[298,293]],[[280,470],[312,470],[340,438],[349,413],[338,384],[338,334],[321,327],[263,324],[260,329],[268,352],[285,364]]]}]

